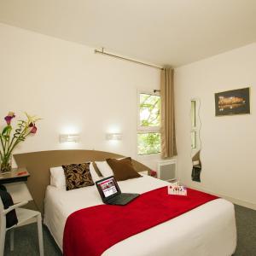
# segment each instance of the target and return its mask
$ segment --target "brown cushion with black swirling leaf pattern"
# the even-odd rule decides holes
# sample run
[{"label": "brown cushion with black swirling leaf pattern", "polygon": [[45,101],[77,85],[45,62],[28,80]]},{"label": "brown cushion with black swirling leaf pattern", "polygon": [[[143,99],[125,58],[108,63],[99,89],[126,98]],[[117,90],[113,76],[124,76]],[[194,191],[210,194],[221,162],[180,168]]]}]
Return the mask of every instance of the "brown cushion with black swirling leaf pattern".
[{"label": "brown cushion with black swirling leaf pattern", "polygon": [[79,189],[94,185],[90,175],[90,163],[62,166],[66,177],[66,189]]}]

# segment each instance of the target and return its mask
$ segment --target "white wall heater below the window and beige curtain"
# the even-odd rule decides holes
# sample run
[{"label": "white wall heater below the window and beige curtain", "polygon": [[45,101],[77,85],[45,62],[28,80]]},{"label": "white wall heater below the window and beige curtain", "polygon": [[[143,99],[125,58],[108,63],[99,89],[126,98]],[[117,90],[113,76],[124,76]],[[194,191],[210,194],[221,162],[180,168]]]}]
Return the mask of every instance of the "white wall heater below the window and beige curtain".
[{"label": "white wall heater below the window and beige curtain", "polygon": [[177,179],[177,160],[159,160],[157,162],[157,177],[166,180],[172,181]]}]

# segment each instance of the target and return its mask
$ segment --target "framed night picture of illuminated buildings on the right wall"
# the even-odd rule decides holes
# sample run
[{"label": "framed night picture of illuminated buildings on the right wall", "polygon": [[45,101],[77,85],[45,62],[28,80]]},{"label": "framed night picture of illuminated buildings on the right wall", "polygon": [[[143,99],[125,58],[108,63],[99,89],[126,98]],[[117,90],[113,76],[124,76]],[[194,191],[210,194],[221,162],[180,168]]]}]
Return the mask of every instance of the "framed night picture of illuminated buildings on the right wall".
[{"label": "framed night picture of illuminated buildings on the right wall", "polygon": [[215,115],[250,113],[250,88],[215,93]]}]

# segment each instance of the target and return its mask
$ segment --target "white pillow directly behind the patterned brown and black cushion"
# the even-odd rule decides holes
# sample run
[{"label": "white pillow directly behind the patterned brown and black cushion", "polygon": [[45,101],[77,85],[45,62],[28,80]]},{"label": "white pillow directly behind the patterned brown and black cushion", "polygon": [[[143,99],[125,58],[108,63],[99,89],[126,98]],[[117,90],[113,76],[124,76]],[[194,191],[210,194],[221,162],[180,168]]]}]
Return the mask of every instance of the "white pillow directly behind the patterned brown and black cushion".
[{"label": "white pillow directly behind the patterned brown and black cushion", "polygon": [[[98,176],[92,163],[90,163],[89,168],[90,168],[90,175],[94,182],[102,178]],[[62,166],[51,167],[49,168],[49,172],[50,172],[50,184],[52,186],[55,186],[57,189],[66,189],[66,177],[65,177]]]}]

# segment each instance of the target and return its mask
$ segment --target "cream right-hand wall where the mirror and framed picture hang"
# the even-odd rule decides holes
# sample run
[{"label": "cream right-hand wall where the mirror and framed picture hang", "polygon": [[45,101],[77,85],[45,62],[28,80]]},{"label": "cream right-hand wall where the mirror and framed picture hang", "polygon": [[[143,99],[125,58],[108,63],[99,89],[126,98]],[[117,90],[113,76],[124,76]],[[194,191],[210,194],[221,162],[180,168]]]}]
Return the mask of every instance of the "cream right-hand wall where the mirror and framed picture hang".
[{"label": "cream right-hand wall where the mirror and framed picture hang", "polygon": [[[175,70],[178,173],[256,209],[256,44]],[[251,114],[215,117],[214,93],[251,87]],[[201,99],[201,183],[191,181],[190,99]]]}]

